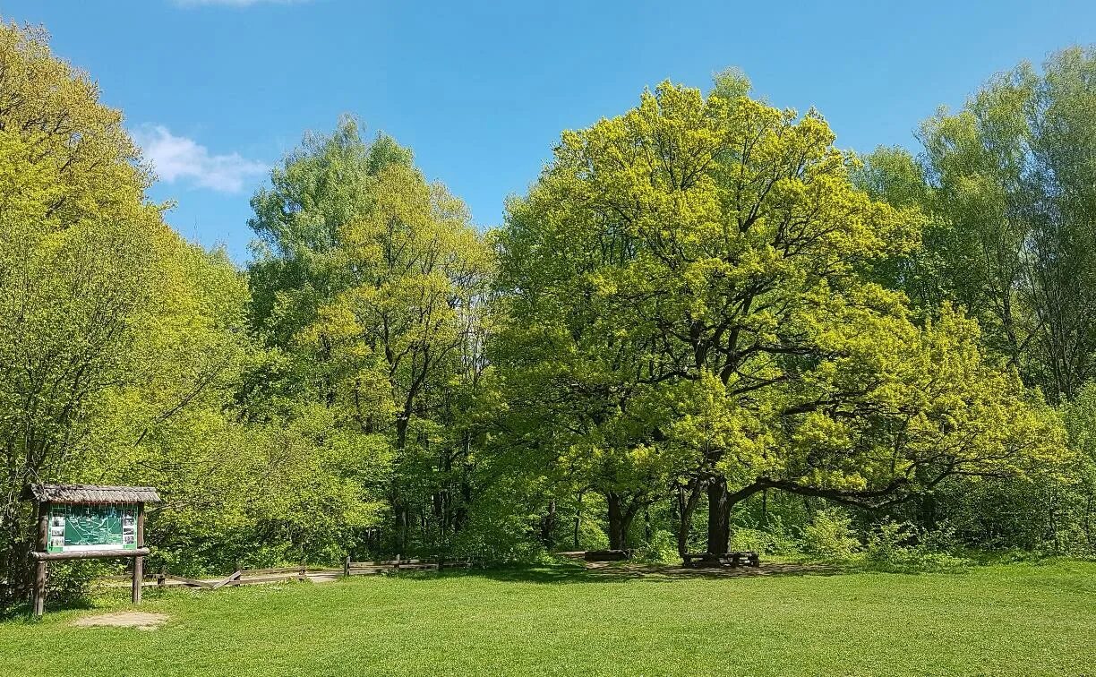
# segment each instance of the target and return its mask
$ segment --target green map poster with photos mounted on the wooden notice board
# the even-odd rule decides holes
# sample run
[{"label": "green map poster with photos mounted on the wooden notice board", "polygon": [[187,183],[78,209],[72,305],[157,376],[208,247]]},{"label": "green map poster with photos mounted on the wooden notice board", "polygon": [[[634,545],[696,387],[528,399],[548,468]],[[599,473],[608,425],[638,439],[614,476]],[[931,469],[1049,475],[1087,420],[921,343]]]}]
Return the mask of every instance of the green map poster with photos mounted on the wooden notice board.
[{"label": "green map poster with photos mounted on the wooden notice board", "polygon": [[49,510],[49,552],[136,550],[137,506],[55,505]]}]

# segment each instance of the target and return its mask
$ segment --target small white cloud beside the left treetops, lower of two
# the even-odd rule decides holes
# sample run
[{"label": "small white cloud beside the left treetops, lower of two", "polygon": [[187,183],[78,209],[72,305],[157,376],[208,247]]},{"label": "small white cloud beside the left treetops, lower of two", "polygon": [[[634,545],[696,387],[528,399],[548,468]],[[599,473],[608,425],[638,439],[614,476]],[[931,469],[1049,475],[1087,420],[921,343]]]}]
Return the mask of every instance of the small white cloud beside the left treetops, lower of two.
[{"label": "small white cloud beside the left treetops, lower of two", "polygon": [[134,131],[161,181],[185,181],[220,193],[239,193],[249,179],[267,170],[266,164],[240,153],[215,156],[193,139],[175,136],[162,125],[146,125]]}]

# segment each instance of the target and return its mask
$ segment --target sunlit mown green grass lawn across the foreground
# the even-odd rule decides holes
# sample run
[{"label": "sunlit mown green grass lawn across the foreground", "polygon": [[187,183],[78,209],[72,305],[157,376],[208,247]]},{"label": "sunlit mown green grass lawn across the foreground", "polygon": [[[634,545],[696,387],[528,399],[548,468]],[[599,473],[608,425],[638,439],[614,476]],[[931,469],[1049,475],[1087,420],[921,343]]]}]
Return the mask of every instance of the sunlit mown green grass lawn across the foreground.
[{"label": "sunlit mown green grass lawn across the foreground", "polygon": [[0,623],[3,675],[1096,675],[1096,563],[631,576],[576,565],[146,595]]}]

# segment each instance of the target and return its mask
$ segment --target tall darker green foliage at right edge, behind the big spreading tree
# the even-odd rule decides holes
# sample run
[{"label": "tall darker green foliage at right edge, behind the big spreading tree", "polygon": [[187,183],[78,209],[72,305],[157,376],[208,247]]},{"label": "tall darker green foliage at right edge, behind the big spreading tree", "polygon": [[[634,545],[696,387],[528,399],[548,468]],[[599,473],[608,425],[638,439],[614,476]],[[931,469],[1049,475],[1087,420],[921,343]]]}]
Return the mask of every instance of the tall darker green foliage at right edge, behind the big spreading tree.
[{"label": "tall darker green foliage at right edge, behind the big spreading tree", "polygon": [[924,250],[891,284],[926,311],[941,298],[978,319],[985,344],[1058,402],[1092,378],[1096,142],[1092,49],[1001,73],[961,111],[922,125],[924,153],[869,156],[860,185],[928,216]]}]

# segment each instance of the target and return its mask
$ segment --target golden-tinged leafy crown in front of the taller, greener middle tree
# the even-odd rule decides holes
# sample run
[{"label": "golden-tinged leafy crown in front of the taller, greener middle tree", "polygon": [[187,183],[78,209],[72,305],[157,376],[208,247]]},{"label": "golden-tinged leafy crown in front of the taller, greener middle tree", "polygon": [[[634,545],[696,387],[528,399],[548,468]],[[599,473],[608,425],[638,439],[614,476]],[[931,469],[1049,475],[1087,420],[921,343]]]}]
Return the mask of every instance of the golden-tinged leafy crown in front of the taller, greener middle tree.
[{"label": "golden-tinged leafy crown in front of the taller, greener middle tree", "polygon": [[[383,409],[410,406],[429,380],[444,381],[477,321],[491,263],[460,200],[401,164],[378,172],[365,213],[338,228],[346,286],[318,311],[301,340],[344,365],[346,395],[386,382]],[[341,395],[342,397],[342,395]]]}]

